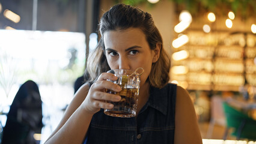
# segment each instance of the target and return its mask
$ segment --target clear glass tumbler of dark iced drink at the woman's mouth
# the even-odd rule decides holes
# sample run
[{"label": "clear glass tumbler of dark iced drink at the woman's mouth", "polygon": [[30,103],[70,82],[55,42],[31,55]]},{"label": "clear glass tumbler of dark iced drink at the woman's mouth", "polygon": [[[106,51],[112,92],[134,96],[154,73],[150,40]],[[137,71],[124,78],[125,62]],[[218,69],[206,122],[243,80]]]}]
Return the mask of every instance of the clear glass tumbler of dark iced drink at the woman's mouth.
[{"label": "clear glass tumbler of dark iced drink at the woman's mouth", "polygon": [[[143,69],[142,69],[143,70]],[[120,95],[121,100],[118,102],[106,101],[107,103],[114,104],[113,109],[105,109],[104,113],[109,116],[117,116],[121,118],[130,118],[136,116],[138,95],[139,95],[139,74],[136,71],[115,69],[110,70],[108,73],[113,73],[118,77],[117,80],[109,80],[119,85],[122,90],[115,92],[106,89],[109,94]]]}]

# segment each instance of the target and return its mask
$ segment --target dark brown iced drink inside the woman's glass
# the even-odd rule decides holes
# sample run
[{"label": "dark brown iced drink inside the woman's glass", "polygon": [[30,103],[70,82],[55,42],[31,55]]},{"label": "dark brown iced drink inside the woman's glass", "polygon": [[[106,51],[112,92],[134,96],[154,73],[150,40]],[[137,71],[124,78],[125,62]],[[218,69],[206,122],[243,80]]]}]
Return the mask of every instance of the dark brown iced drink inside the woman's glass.
[{"label": "dark brown iced drink inside the woman's glass", "polygon": [[118,102],[107,101],[114,104],[113,109],[105,110],[106,115],[118,117],[133,117],[136,115],[136,107],[139,91],[137,88],[126,88],[120,92],[114,92],[106,89],[109,94],[120,95],[121,100]]}]

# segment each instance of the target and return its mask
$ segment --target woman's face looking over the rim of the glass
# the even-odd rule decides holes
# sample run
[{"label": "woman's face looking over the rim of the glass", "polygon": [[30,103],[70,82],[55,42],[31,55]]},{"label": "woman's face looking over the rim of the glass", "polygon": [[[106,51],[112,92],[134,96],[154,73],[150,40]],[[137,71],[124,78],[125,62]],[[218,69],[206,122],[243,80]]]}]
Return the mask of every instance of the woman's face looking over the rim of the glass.
[{"label": "woman's face looking over the rim of the glass", "polygon": [[142,67],[141,86],[150,74],[153,62],[158,59],[157,50],[148,46],[145,34],[139,28],[106,31],[103,34],[106,59],[111,69],[128,69],[135,71]]}]

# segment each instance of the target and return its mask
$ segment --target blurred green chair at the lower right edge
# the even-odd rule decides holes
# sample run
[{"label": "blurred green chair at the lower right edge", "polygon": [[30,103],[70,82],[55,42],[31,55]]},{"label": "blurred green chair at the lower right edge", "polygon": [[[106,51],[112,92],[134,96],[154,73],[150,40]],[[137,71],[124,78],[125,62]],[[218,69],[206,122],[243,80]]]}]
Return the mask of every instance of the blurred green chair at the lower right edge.
[{"label": "blurred green chair at the lower right edge", "polygon": [[224,140],[227,139],[228,130],[233,129],[232,136],[236,139],[256,140],[256,121],[243,112],[230,106],[227,102],[222,103],[226,116],[227,127],[224,134]]}]

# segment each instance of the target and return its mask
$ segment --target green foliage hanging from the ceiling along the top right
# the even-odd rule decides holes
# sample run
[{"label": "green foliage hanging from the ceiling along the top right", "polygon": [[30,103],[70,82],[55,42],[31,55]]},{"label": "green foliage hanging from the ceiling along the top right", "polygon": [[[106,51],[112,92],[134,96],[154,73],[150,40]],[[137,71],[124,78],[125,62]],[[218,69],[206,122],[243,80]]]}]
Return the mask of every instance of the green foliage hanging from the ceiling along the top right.
[{"label": "green foliage hanging from the ceiling along the top right", "polygon": [[[161,0],[160,0],[161,1]],[[212,11],[213,13],[224,15],[228,11],[233,11],[235,14],[243,18],[256,16],[256,1],[255,0],[169,0],[177,6],[177,11],[188,10],[192,15],[203,14],[204,12]],[[116,0],[124,4],[139,5],[149,4],[147,0]],[[157,4],[157,3],[156,3]],[[151,4],[151,5],[156,5]]]}]

